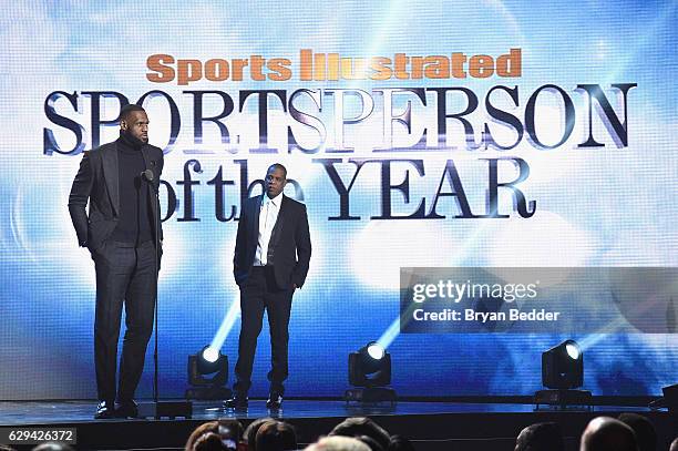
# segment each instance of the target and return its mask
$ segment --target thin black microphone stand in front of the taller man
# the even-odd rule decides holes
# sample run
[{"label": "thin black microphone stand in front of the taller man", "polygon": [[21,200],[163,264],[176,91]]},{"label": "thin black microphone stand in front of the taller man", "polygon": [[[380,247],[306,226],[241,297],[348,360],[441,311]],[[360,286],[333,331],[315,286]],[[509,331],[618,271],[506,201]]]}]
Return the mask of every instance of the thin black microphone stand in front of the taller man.
[{"label": "thin black microphone stand in front of the taller man", "polygon": [[156,420],[160,420],[162,417],[176,418],[176,417],[185,417],[187,419],[193,416],[193,403],[188,401],[160,401],[160,385],[158,385],[158,346],[157,346],[157,335],[158,335],[158,299],[157,299],[157,285],[160,279],[160,181],[157,186],[155,184],[155,174],[152,170],[146,170],[141,174],[142,180],[144,180],[151,189],[153,191],[155,203],[156,214],[153,215],[153,223],[155,224],[155,236],[154,236],[154,245],[155,245],[155,259],[153,262],[153,269],[155,270],[155,289],[154,289],[154,327],[155,327],[155,344],[153,350],[153,409],[143,409],[143,406],[140,406],[140,417],[154,417]]}]

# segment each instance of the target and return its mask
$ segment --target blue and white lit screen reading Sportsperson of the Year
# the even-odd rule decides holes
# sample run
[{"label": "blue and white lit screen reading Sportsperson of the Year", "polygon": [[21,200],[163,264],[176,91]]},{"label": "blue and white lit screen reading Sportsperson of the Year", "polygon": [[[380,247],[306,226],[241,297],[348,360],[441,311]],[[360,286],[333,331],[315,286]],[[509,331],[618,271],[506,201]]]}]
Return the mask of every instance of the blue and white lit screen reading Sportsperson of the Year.
[{"label": "blue and white lit screen reading Sportsperson of the Year", "polygon": [[[532,393],[565,338],[595,394],[659,393],[675,334],[400,334],[399,283],[401,267],[678,266],[676,23],[654,1],[6,4],[0,399],[95,396],[93,263],[66,202],[127,102],[165,152],[163,396],[207,344],[233,368],[236,218],[273,162],[314,242],[289,396],[342,393],[347,355],[374,339],[401,394]],[[265,327],[253,394],[269,352]]]}]

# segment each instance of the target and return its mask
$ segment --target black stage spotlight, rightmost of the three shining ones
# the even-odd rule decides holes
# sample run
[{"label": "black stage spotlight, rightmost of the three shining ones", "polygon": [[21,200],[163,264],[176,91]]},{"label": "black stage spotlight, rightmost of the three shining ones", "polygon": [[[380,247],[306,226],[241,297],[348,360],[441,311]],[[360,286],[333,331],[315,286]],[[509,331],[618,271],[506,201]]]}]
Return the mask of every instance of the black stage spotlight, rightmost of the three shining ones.
[{"label": "black stage spotlight, rightmost of the three shining ones", "polygon": [[590,391],[577,390],[584,385],[584,352],[575,340],[565,340],[542,353],[542,383],[549,390],[535,393],[535,403],[588,406]]}]

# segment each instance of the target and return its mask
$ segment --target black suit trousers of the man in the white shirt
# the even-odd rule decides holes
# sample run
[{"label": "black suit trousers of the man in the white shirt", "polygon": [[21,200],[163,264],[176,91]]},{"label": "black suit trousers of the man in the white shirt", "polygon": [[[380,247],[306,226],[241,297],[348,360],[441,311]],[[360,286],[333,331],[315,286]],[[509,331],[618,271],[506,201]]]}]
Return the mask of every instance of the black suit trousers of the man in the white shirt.
[{"label": "black suit trousers of the man in the white shirt", "polygon": [[238,361],[236,363],[236,383],[234,390],[247,393],[251,386],[257,338],[261,331],[264,310],[268,314],[270,330],[271,369],[268,372],[270,391],[282,394],[282,382],[288,376],[289,315],[294,287],[277,286],[273,266],[254,266],[247,279],[240,286],[242,328],[238,341]]}]

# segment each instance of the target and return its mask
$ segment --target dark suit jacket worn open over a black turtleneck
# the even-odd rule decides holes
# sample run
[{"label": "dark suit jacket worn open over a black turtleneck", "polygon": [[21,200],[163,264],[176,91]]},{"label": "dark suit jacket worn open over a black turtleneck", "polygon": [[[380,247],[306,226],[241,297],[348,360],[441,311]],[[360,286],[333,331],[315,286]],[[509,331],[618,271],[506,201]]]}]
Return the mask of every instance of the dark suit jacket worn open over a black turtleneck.
[{"label": "dark suit jacket worn open over a black turtleneck", "polygon": [[[155,175],[153,185],[160,186],[163,172],[163,151],[153,145],[142,146],[142,155],[147,170]],[[112,142],[90,152],[85,152],[80,162],[80,170],[73,181],[69,196],[69,213],[78,234],[78,242],[90,250],[96,250],[117,226],[120,214],[117,144]],[[155,194],[151,193],[151,208],[163,239],[160,221],[160,205]],[[88,215],[85,208],[90,204]],[[155,235],[156,224],[153,224]]]}]

